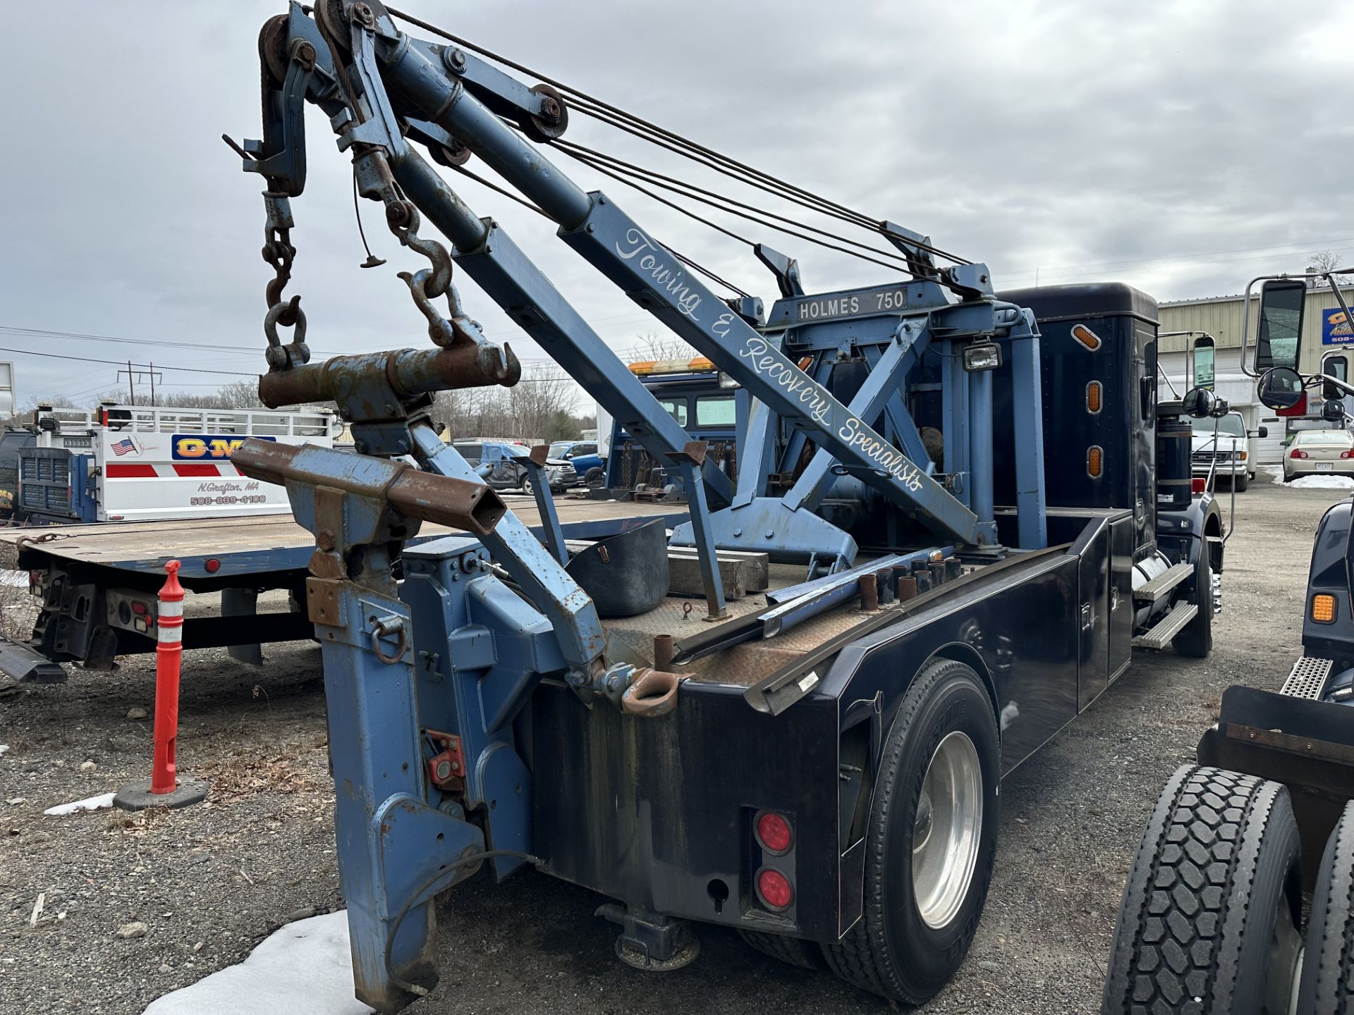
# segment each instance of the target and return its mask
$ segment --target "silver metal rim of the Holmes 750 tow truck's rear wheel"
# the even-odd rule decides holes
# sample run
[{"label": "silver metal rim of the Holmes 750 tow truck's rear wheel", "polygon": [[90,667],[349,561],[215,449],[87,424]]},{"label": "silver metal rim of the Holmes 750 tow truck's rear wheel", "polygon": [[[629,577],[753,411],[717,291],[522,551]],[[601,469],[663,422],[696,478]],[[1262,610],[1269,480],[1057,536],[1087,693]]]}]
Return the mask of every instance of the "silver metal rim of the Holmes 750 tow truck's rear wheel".
[{"label": "silver metal rim of the Holmes 750 tow truck's rear wheel", "polygon": [[967,734],[932,754],[913,820],[913,896],[932,930],[948,926],[974,880],[983,827],[983,770]]}]

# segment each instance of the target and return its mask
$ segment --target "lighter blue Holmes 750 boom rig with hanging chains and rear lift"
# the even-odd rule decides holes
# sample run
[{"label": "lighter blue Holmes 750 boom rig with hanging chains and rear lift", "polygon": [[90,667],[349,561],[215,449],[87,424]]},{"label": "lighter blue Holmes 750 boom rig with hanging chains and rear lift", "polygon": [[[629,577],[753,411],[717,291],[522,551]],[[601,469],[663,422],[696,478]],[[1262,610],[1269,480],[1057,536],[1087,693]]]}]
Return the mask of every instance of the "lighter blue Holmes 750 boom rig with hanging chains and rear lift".
[{"label": "lighter blue Holmes 750 boom rig with hanging chains and rear lift", "polygon": [[[808,559],[811,571],[819,563],[849,566],[854,541],[814,513],[839,475],[873,487],[945,541],[969,552],[999,551],[992,374],[990,364],[974,372],[959,367],[965,349],[998,342],[1014,371],[1020,545],[1043,548],[1039,332],[1028,310],[994,296],[984,265],[936,268],[925,237],[891,225],[881,231],[903,252],[910,280],[808,296],[791,263],[765,250],[783,296],[769,317],[756,298],[726,302],[615,200],[584,192],[542,154],[540,146],[567,127],[569,110],[555,88],[527,87],[460,46],[413,38],[376,0],[321,0],[314,16],[309,11],[292,3],[265,23],[264,138],[227,143],[245,171],[267,180],[264,258],[276,275],[267,292],[269,371],[260,395],[269,406],[334,399],[360,453],[283,453],[250,443],[234,461],[246,475],[284,483],[297,520],[315,535],[307,608],[324,650],[357,995],[395,1011],[436,983],[433,895],[486,859],[498,877],[536,861],[527,855],[531,777],[515,750],[512,720],[538,683],[561,679],[586,705],[611,702],[634,717],[662,715],[677,694],[676,678],[665,679],[670,674],[608,662],[597,610],[558,559],[558,547],[543,547],[435,432],[427,411],[432,392],[513,384],[520,375],[512,351],[486,338],[460,306],[454,265],[655,459],[685,470],[692,525],[676,540],[697,545],[707,587],[716,547]],[[429,267],[401,277],[435,348],[309,363],[299,298],[283,295],[295,256],[291,199],[305,185],[306,102],[329,116],[338,149],[352,158],[359,194],[380,202],[401,244],[428,260]],[[482,160],[559,225],[566,245],[751,394],[737,489],[688,445],[682,428],[506,230],[478,217],[416,145],[448,166],[471,154]],[[424,217],[450,240],[450,250],[421,235]],[[445,313],[435,303],[443,298]],[[292,329],[290,341],[280,329]],[[818,351],[812,374],[783,349],[791,336],[807,336]],[[822,352],[857,336],[871,369],[844,402],[825,383],[830,367]],[[933,345],[942,359],[944,476],[902,397],[909,372]],[[903,448],[876,429],[880,418]],[[788,494],[770,497],[780,422],[793,433],[793,447],[811,441],[818,451]],[[403,456],[422,472],[410,475],[395,460]],[[538,491],[538,501],[548,520],[548,491]],[[440,586],[463,579],[444,593],[447,624],[455,627],[456,612],[468,627],[456,627],[440,652],[416,648],[413,616],[393,577],[403,540],[422,520],[450,520],[474,533]],[[500,582],[498,566],[521,595]],[[718,616],[714,598],[711,612]],[[473,629],[492,631],[494,648],[464,633]],[[474,681],[462,683],[468,673]],[[437,692],[439,704],[429,705],[424,682],[441,679],[455,689]],[[437,759],[450,758],[464,773],[455,800],[429,789],[429,781],[444,785],[425,771],[429,742]],[[432,803],[439,798],[440,805]],[[468,820],[467,811],[479,820]]]}]

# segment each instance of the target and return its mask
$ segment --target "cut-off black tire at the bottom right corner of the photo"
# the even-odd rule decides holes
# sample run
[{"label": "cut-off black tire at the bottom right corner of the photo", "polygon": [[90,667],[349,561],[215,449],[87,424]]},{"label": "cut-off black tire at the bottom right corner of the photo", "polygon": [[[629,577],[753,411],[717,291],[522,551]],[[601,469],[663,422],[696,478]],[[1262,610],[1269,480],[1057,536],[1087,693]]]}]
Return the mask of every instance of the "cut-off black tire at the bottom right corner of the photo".
[{"label": "cut-off black tire at the bottom right corner of the photo", "polygon": [[1345,805],[1316,874],[1297,1010],[1354,1012],[1354,804]]}]

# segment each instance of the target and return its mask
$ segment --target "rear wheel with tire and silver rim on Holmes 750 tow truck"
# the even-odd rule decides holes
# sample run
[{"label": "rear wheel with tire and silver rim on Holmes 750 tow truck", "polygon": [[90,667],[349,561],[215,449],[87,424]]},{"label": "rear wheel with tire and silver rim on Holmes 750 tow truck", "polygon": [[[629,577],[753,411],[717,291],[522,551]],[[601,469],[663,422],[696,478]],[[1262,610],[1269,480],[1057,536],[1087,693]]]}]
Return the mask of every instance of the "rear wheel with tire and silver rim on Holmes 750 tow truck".
[{"label": "rear wheel with tire and silver rim on Holmes 750 tow truck", "polygon": [[998,765],[982,679],[961,662],[932,660],[884,743],[865,828],[864,914],[823,945],[837,976],[903,1004],[921,1004],[953,976],[991,884]]}]

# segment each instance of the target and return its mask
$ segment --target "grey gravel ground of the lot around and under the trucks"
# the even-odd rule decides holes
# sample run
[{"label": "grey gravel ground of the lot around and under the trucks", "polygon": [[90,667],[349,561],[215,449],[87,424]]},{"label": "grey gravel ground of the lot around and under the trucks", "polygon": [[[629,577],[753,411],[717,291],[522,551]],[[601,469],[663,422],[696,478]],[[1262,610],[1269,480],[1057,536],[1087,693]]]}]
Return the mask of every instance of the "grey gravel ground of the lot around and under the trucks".
[{"label": "grey gravel ground of the lot around and under the trucks", "polygon": [[[1003,784],[986,915],[959,976],[923,1011],[1098,1011],[1120,892],[1159,788],[1192,759],[1225,686],[1277,687],[1300,651],[1312,535],[1345,493],[1263,479],[1236,498],[1213,656],[1139,656]],[[42,811],[148,774],[150,721],[129,716],[152,708],[149,658],[0,687],[0,1011],[139,1012],[240,962],[290,919],[343,905],[318,650],[275,647],[259,670],[191,652],[185,673],[180,766],[211,781],[210,801],[137,816]],[[439,914],[441,985],[412,1011],[887,1010],[718,928],[700,930],[701,958],[685,970],[634,972],[613,958],[597,903],[535,873],[458,888]],[[144,932],[118,937],[131,923]]]}]

